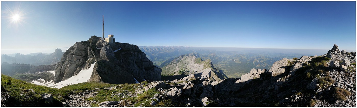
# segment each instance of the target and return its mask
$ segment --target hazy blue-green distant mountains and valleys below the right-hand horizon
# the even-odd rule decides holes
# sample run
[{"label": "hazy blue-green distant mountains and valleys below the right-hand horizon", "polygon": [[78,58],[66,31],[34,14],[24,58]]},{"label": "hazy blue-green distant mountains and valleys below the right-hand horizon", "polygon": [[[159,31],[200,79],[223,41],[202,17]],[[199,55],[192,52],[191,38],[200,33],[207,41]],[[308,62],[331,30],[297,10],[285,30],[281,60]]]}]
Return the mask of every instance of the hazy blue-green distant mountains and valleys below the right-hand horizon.
[{"label": "hazy blue-green distant mountains and valleys below the right-hand horizon", "polygon": [[210,59],[215,67],[229,78],[239,78],[252,68],[269,69],[282,58],[303,55],[325,54],[326,50],[272,49],[272,48],[226,48],[184,46],[139,46],[154,65],[165,67],[174,58],[195,52],[202,60]]}]

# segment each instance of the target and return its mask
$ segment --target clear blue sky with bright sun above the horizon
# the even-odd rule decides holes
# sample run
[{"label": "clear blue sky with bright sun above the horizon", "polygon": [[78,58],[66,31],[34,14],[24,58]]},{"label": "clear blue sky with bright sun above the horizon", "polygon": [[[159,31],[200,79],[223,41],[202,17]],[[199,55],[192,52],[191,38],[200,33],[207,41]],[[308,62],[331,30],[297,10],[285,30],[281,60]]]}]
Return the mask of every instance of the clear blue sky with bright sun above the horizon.
[{"label": "clear blue sky with bright sun above the horizon", "polygon": [[1,53],[52,53],[102,36],[102,15],[105,37],[137,46],[356,49],[354,1],[2,1]]}]

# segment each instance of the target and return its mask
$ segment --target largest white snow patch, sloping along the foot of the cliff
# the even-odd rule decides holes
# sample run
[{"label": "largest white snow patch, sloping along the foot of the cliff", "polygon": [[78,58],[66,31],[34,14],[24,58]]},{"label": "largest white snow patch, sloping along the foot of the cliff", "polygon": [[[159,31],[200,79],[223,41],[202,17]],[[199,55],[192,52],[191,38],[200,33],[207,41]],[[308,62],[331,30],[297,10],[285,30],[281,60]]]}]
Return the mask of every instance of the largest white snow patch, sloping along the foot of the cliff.
[{"label": "largest white snow patch, sloping along the foot of the cliff", "polygon": [[[81,70],[78,74],[76,74],[75,76],[72,76],[64,81],[58,82],[58,83],[54,83],[52,82],[53,80],[51,80],[48,83],[44,83],[44,84],[38,84],[38,85],[42,85],[42,86],[47,86],[47,87],[52,87],[52,88],[62,88],[64,86],[68,86],[68,85],[72,85],[72,84],[78,84],[78,83],[83,83],[83,82],[88,82],[90,79],[90,76],[92,75],[92,72],[94,70],[94,65],[96,62],[94,62],[92,65],[90,65],[89,70]],[[54,71],[53,71],[54,72]],[[51,72],[52,73],[52,72]],[[32,81],[34,82],[34,81]]]}]

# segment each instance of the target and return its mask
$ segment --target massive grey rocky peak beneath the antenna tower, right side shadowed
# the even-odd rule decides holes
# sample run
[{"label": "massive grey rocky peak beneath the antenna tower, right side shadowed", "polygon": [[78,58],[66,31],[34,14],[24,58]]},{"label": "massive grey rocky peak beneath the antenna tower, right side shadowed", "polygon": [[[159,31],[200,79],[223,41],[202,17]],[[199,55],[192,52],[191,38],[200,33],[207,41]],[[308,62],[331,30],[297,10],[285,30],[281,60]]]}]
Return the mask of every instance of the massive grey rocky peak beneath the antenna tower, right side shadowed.
[{"label": "massive grey rocky peak beneath the antenna tower, right side shadowed", "polygon": [[87,41],[76,42],[62,56],[55,70],[55,82],[60,82],[88,69],[96,62],[89,81],[107,83],[134,83],[160,80],[161,69],[152,65],[136,45],[106,43],[92,36]]}]

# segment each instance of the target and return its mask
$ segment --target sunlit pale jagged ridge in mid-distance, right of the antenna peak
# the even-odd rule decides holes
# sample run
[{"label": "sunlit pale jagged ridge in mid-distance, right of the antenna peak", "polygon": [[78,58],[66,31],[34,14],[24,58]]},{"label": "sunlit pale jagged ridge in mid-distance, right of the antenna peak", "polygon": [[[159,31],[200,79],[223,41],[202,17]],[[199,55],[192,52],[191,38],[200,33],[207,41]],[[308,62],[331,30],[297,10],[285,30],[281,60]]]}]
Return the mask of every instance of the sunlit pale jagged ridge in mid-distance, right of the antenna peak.
[{"label": "sunlit pale jagged ridge in mid-distance, right of the antenna peak", "polygon": [[227,76],[217,70],[210,59],[205,61],[197,53],[190,53],[176,57],[169,65],[161,68],[162,80],[175,80],[193,74],[195,78],[209,81],[221,81]]}]

